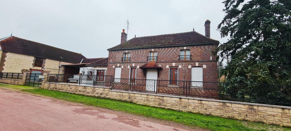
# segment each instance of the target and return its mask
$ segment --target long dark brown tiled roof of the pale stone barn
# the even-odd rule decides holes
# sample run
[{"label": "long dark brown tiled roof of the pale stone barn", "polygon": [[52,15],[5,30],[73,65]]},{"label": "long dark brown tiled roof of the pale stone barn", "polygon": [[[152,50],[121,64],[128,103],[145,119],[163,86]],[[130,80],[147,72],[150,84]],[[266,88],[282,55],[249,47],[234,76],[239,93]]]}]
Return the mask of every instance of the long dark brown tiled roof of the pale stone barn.
[{"label": "long dark brown tiled roof of the pale stone barn", "polygon": [[86,58],[82,54],[76,52],[71,52],[30,40],[25,40],[15,36],[1,39],[0,46],[1,50],[7,52],[38,56],[70,63],[80,63],[82,59]]}]

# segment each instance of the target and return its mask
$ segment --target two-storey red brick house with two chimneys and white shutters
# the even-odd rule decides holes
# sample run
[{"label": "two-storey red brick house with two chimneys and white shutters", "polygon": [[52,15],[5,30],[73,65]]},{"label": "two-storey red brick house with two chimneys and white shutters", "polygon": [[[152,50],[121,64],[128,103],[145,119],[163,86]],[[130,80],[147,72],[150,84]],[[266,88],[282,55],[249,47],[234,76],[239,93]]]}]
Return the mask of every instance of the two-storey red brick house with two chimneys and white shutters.
[{"label": "two-storey red brick house with two chimneys and white shutters", "polygon": [[193,30],[130,40],[123,30],[121,44],[107,49],[107,75],[120,80],[165,80],[161,84],[172,90],[184,84],[180,81],[193,81],[191,86],[196,88],[217,88],[205,82],[217,82],[217,61],[211,52],[219,41],[210,38],[209,20],[204,26],[205,36]]}]

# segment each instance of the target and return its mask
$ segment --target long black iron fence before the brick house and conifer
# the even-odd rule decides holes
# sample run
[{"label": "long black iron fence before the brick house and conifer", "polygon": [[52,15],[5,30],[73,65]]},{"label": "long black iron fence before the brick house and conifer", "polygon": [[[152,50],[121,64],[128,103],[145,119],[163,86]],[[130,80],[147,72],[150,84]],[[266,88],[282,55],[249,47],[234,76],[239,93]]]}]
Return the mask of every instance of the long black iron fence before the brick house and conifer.
[{"label": "long black iron fence before the brick house and conifer", "polygon": [[112,89],[291,106],[291,85],[115,78]]}]

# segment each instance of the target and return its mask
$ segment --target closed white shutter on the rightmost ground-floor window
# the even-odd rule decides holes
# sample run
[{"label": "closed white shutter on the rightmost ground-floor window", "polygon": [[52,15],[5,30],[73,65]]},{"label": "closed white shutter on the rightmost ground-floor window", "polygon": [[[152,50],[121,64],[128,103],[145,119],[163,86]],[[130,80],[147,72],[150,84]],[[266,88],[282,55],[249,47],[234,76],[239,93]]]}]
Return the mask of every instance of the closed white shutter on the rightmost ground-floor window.
[{"label": "closed white shutter on the rightmost ground-floor window", "polygon": [[203,68],[192,67],[191,68],[191,86],[203,87]]}]

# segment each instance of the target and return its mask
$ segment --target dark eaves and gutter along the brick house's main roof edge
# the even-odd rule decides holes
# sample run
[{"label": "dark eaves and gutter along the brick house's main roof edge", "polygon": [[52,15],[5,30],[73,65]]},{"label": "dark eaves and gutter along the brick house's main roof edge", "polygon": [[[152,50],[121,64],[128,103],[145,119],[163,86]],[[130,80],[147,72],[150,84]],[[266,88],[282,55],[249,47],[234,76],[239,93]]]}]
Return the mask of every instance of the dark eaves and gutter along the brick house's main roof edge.
[{"label": "dark eaves and gutter along the brick house's main roof edge", "polygon": [[147,49],[147,48],[159,48],[159,47],[182,47],[182,46],[198,46],[198,45],[219,45],[220,42],[211,43],[195,43],[195,44],[183,44],[183,45],[163,45],[163,46],[152,46],[152,47],[135,47],[135,48],[124,48],[124,49],[107,49],[112,50],[125,50],[125,49]]}]

